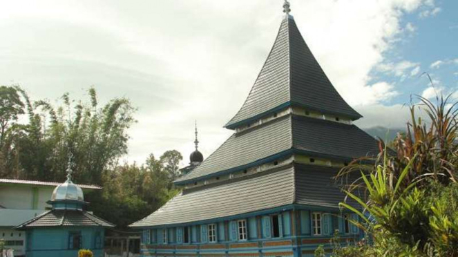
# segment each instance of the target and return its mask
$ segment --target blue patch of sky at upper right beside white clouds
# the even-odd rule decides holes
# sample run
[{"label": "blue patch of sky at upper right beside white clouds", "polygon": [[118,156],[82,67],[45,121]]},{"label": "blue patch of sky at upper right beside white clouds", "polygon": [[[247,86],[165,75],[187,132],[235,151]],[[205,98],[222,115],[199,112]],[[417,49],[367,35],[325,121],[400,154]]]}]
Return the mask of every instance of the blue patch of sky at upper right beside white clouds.
[{"label": "blue patch of sky at upper right beside white clouds", "polygon": [[399,95],[387,104],[409,104],[410,95],[423,95],[431,86],[423,73],[432,77],[437,91],[446,95],[457,91],[458,1],[438,1],[432,10],[419,8],[417,12],[405,14],[401,24],[411,31],[406,29],[392,44],[385,53],[385,63],[405,61],[409,68],[397,75],[377,70],[377,67],[372,70],[374,81],[381,79],[397,84]]}]

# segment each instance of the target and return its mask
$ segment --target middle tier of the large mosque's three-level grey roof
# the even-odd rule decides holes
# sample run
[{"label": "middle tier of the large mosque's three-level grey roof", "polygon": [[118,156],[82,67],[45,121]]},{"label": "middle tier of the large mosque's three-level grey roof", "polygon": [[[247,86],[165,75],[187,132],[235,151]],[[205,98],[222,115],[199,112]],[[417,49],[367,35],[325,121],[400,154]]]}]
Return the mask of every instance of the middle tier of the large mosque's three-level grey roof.
[{"label": "middle tier of the large mosque's three-level grey roof", "polygon": [[175,182],[182,184],[242,166],[257,165],[288,150],[345,160],[374,156],[379,152],[374,137],[355,125],[287,115],[233,134],[200,166]]}]

